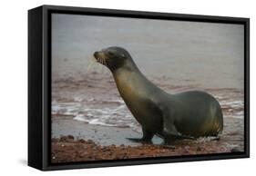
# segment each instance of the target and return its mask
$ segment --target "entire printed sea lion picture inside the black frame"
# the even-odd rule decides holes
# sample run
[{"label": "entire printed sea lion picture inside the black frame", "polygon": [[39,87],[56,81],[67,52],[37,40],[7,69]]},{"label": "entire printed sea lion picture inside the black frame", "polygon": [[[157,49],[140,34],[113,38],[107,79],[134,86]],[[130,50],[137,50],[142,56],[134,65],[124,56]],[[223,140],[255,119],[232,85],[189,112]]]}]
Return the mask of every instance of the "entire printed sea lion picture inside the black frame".
[{"label": "entire printed sea lion picture inside the black frame", "polygon": [[244,152],[244,25],[51,15],[51,162]]}]

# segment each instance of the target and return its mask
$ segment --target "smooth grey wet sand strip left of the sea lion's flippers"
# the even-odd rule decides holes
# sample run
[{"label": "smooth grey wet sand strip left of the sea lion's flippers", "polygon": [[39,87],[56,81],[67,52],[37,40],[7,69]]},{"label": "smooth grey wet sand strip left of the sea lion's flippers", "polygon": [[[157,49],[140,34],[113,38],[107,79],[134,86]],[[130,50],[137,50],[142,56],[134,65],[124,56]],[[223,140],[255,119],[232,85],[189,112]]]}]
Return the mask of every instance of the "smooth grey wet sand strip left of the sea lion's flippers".
[{"label": "smooth grey wet sand strip left of the sea lion's flippers", "polygon": [[52,137],[59,138],[61,136],[72,135],[77,140],[92,140],[98,145],[139,145],[130,142],[126,138],[138,137],[139,132],[132,131],[130,128],[108,127],[102,125],[88,124],[87,122],[79,122],[73,120],[72,116],[59,116],[52,118]]}]

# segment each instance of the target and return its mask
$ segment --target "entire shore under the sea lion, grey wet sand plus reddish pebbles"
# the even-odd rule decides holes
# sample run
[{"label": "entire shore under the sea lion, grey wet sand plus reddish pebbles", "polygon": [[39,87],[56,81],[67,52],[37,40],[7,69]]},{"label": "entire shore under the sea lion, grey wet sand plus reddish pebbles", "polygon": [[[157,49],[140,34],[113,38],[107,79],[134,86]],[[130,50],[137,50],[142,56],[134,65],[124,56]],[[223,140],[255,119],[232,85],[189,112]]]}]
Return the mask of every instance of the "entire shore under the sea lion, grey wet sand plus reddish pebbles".
[{"label": "entire shore under the sea lion, grey wet sand plus reddish pebbles", "polygon": [[72,116],[54,116],[51,160],[53,163],[102,161],[243,151],[241,135],[236,132],[223,132],[220,140],[210,137],[183,140],[175,142],[174,146],[160,145],[162,140],[158,137],[154,137],[154,144],[126,139],[140,138],[141,135],[127,127],[101,126],[75,121]]}]

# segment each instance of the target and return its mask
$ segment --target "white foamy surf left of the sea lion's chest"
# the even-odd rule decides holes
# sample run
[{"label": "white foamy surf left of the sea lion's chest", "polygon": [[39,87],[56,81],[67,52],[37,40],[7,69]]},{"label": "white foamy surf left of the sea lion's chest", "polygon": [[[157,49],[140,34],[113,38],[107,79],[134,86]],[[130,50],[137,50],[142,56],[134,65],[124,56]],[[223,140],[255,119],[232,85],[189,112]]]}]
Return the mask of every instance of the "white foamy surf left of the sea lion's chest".
[{"label": "white foamy surf left of the sea lion's chest", "polygon": [[[75,100],[75,99],[74,99]],[[116,127],[131,127],[138,130],[138,122],[134,119],[128,111],[127,106],[121,100],[96,100],[89,99],[91,103],[96,105],[90,107],[83,103],[60,103],[52,102],[52,114],[71,115],[74,116],[75,121],[87,122],[90,124],[97,124],[103,126],[116,126]],[[104,102],[111,104],[110,107],[101,108],[97,107],[97,103]]]}]

